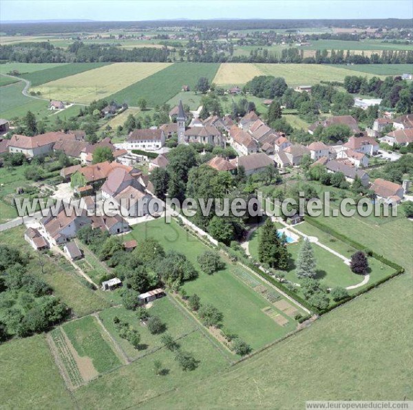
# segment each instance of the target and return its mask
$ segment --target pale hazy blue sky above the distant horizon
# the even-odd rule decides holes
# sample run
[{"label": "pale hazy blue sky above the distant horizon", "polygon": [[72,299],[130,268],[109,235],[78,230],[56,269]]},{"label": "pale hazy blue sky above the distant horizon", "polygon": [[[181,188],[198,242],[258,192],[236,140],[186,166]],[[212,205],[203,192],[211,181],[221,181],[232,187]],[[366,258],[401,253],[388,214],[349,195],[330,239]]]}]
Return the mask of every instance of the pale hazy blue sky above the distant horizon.
[{"label": "pale hazy blue sky above the distant horizon", "polygon": [[0,0],[0,21],[413,18],[412,0]]}]

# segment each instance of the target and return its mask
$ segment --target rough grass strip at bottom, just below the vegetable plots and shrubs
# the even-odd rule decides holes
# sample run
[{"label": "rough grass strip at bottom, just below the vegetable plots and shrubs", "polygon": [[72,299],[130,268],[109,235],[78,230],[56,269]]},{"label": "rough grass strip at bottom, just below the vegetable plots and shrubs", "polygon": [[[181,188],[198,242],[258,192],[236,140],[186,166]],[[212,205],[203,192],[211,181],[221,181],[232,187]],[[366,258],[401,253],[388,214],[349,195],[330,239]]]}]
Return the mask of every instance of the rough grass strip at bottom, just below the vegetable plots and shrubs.
[{"label": "rough grass strip at bottom, just below the vegetable plots and shrubs", "polygon": [[[104,374],[88,385],[74,391],[74,398],[81,409],[125,409],[136,408],[140,402],[151,400],[167,391],[178,387],[184,388],[193,380],[202,382],[206,378],[219,374],[228,366],[211,342],[199,330],[180,339],[180,347],[193,354],[198,360],[198,367],[193,371],[182,371],[174,354],[167,349],[160,349],[130,365]],[[165,374],[156,376],[153,362],[162,363]],[[160,408],[165,408],[163,402]],[[200,403],[198,403],[198,407]]]}]

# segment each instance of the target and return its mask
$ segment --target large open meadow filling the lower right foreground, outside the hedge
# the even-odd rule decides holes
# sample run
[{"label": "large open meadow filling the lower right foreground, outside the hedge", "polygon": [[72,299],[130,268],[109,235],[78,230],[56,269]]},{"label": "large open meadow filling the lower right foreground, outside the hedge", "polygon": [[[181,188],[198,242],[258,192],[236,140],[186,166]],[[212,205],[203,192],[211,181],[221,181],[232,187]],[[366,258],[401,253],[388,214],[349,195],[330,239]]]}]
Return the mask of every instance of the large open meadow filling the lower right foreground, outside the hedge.
[{"label": "large open meadow filling the lower right foreground, outside the hedge", "polygon": [[411,275],[392,279],[263,354],[141,408],[243,409],[248,403],[250,409],[301,409],[306,400],[412,400],[412,289]]}]

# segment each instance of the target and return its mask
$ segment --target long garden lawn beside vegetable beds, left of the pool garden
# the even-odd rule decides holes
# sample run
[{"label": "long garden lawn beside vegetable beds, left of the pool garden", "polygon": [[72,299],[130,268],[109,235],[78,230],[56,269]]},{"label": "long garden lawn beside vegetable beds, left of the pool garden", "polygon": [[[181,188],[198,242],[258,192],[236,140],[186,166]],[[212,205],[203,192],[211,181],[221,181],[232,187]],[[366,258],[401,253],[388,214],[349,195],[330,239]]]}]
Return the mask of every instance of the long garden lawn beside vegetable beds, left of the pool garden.
[{"label": "long garden lawn beside vegetable beds, left of the pool garden", "polygon": [[[165,224],[163,219],[135,225],[125,240],[131,237],[138,241],[138,246],[145,238],[156,237],[165,250],[183,253],[199,271],[197,257],[208,249],[176,222]],[[224,270],[213,275],[201,272],[198,279],[185,283],[184,289],[189,295],[198,294],[201,303],[213,304],[224,314],[224,327],[238,334],[253,349],[258,349],[294,330],[295,321],[287,318],[288,323],[282,327],[262,312],[271,303],[237,278],[242,272],[245,271],[240,265],[227,262]]]}]

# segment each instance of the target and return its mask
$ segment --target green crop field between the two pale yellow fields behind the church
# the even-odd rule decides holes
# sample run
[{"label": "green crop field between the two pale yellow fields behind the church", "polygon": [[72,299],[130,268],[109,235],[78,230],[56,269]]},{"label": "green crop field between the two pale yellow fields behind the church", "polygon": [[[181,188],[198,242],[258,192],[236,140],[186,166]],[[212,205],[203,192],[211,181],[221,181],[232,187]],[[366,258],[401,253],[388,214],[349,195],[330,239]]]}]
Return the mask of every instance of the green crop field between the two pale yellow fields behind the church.
[{"label": "green crop field between the two pale yellow fields behind the church", "polygon": [[207,77],[211,82],[219,66],[216,63],[175,63],[144,80],[129,85],[110,96],[110,99],[119,103],[127,102],[132,107],[138,105],[140,98],[145,98],[149,107],[160,105],[176,96],[181,91],[182,85],[189,85],[193,89],[200,77]]}]

